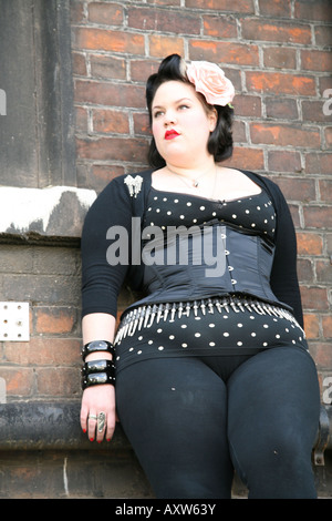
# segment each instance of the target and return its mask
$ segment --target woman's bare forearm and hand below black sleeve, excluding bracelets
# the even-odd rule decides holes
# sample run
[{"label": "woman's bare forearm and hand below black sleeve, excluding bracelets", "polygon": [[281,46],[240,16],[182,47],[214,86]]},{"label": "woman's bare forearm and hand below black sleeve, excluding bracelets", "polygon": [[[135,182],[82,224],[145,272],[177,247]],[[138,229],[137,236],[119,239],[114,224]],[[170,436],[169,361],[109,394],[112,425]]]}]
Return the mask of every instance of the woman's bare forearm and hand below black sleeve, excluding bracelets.
[{"label": "woman's bare forearm and hand below black sleeve, excluding bracelets", "polygon": [[[82,320],[83,345],[93,340],[106,340],[113,343],[115,334],[115,317],[103,313],[85,315]],[[110,353],[92,353],[86,356],[85,361],[108,359]],[[96,420],[89,419],[89,415],[97,416],[98,412],[106,415],[106,428],[103,432],[96,431]],[[81,407],[81,427],[91,441],[96,439],[101,442],[104,437],[111,440],[116,422],[115,389],[110,384],[89,387],[83,391]]]}]

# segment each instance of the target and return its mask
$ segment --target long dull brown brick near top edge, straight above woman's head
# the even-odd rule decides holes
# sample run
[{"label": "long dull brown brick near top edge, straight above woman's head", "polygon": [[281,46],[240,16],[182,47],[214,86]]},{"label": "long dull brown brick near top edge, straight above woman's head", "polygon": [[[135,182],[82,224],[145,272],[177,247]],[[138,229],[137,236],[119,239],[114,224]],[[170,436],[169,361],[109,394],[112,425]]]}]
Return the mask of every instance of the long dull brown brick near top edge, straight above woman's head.
[{"label": "long dull brown brick near top edge, straight above woman's head", "polygon": [[200,33],[200,19],[186,12],[128,7],[127,18],[129,28],[144,31],[174,32],[176,34]]}]

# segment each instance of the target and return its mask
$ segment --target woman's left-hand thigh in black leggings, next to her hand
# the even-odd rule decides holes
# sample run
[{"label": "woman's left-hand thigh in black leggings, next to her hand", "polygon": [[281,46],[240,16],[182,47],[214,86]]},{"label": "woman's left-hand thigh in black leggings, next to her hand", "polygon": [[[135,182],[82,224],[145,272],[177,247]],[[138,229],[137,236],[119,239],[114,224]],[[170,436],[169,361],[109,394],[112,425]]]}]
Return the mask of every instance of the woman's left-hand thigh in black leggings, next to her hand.
[{"label": "woman's left-hand thigh in black leggings, next to her hand", "polygon": [[121,423],[158,498],[229,497],[226,386],[196,358],[151,359],[122,370]]}]

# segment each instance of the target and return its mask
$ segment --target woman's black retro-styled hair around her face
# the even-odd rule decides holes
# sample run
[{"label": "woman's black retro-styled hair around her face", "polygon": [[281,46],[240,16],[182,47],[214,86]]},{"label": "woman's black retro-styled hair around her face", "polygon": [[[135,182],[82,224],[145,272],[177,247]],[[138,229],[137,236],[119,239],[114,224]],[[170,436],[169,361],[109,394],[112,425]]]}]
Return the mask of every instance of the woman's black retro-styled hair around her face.
[{"label": "woman's black retro-styled hair around her face", "polygon": [[[165,58],[158,69],[158,72],[152,74],[146,82],[146,103],[149,115],[149,123],[152,124],[152,103],[154,96],[157,92],[157,89],[165,83],[166,81],[181,81],[184,83],[189,82],[183,67],[183,59],[178,54],[170,54]],[[227,160],[232,154],[232,115],[234,109],[229,105],[209,105],[204,95],[199,94],[203,103],[211,109],[212,106],[217,111],[218,119],[216,129],[210,133],[208,139],[208,152],[214,155],[215,161],[220,163],[221,161]],[[166,162],[164,157],[160,156],[157,151],[156,143],[154,137],[152,139],[149,151],[148,151],[148,162],[152,166],[160,168],[165,166]]]}]

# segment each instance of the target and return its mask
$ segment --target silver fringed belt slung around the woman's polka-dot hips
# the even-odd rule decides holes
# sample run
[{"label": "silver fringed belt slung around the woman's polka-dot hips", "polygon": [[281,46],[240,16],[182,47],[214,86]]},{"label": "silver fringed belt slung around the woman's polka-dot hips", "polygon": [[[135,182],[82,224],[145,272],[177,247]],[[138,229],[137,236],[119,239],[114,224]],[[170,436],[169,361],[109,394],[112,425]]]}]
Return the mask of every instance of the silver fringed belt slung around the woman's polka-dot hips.
[{"label": "silver fringed belt slung around the woman's polka-dot hips", "polygon": [[[272,304],[263,303],[249,297],[215,297],[204,298],[201,300],[190,300],[187,303],[163,303],[138,306],[125,314],[123,317],[114,340],[114,344],[120,343],[126,337],[132,337],[136,331],[143,328],[149,328],[153,324],[160,321],[175,321],[176,318],[181,316],[189,317],[193,315],[207,314],[229,314],[234,313],[256,313],[258,315],[270,315],[278,318],[286,318],[287,320],[300,325],[293,315],[281,307],[273,306]],[[301,328],[302,329],[302,328]]]}]

